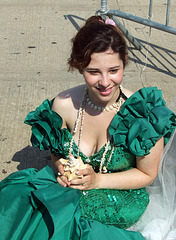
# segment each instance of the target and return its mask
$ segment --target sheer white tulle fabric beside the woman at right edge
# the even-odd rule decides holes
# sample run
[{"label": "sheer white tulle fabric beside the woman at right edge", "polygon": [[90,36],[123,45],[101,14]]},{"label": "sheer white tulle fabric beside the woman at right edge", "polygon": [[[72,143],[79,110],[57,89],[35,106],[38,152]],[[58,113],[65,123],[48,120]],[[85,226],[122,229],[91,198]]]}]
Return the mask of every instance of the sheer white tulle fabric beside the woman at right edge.
[{"label": "sheer white tulle fabric beside the woman at right edge", "polygon": [[157,179],[147,187],[149,206],[129,230],[147,240],[176,240],[176,131],[164,148]]}]

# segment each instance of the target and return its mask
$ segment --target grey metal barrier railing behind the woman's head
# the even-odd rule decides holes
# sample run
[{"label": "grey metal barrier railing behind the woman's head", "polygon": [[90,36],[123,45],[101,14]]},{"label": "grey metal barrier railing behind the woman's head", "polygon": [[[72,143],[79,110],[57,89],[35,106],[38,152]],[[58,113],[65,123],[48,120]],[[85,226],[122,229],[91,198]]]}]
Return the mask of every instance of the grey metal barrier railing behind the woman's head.
[{"label": "grey metal barrier railing behind the woman's head", "polygon": [[156,28],[159,29],[161,31],[165,31],[171,34],[176,34],[176,28],[175,27],[171,27],[169,26],[169,16],[170,16],[170,5],[171,5],[171,0],[167,0],[167,9],[166,9],[166,24],[161,24],[158,22],[154,22],[151,20],[151,16],[152,16],[152,8],[153,8],[153,0],[150,0],[149,3],[149,13],[148,13],[148,19],[146,18],[141,18],[138,16],[134,16],[132,14],[128,14],[119,10],[108,10],[108,4],[107,4],[107,0],[101,0],[101,9],[96,11],[96,15],[100,14],[102,16],[103,19],[106,18],[106,16],[108,16],[109,18],[112,18],[115,23],[117,24],[117,26],[119,27],[119,29],[123,32],[123,34],[126,36],[126,38],[137,48],[137,49],[141,49],[141,45],[140,43],[137,41],[137,39],[135,39],[130,32],[124,27],[124,25],[118,20],[118,17],[120,18],[125,18],[127,20],[133,21],[133,22],[137,22],[152,28]]}]

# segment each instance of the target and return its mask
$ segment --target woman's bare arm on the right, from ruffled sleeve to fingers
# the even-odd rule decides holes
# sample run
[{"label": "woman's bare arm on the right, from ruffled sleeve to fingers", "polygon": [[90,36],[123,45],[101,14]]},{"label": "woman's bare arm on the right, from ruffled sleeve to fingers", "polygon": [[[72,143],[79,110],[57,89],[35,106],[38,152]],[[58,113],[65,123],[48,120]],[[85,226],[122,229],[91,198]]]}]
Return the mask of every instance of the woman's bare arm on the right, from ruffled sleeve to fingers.
[{"label": "woman's bare arm on the right, from ruffled sleeve to fingers", "polygon": [[161,138],[151,149],[149,155],[137,157],[136,168],[127,171],[99,174],[95,173],[91,166],[79,170],[78,174],[82,174],[84,177],[71,181],[70,187],[88,190],[98,188],[137,189],[148,186],[154,181],[158,174],[163,148],[164,141],[163,138]]}]

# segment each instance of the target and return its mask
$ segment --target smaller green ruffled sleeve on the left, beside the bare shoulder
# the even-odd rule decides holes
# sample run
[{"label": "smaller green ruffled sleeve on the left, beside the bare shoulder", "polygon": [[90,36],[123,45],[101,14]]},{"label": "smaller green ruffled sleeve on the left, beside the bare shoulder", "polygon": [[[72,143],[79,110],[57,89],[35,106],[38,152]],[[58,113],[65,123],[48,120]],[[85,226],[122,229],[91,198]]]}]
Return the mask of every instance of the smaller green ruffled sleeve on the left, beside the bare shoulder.
[{"label": "smaller green ruffled sleeve on the left, beside the bare shoulder", "polygon": [[32,126],[31,143],[40,150],[50,149],[56,156],[63,154],[63,120],[51,110],[53,100],[45,100],[35,111],[30,112],[24,123]]}]

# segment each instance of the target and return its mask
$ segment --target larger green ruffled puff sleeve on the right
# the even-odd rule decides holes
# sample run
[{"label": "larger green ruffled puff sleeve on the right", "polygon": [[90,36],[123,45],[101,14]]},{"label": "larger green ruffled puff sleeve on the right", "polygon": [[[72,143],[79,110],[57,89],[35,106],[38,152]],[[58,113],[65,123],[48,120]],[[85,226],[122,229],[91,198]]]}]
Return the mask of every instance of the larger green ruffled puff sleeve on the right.
[{"label": "larger green ruffled puff sleeve on the right", "polygon": [[166,144],[176,128],[176,115],[165,105],[162,92],[156,87],[134,93],[109,127],[114,145],[123,146],[136,156],[144,156],[162,136]]}]

